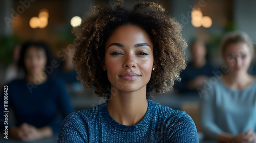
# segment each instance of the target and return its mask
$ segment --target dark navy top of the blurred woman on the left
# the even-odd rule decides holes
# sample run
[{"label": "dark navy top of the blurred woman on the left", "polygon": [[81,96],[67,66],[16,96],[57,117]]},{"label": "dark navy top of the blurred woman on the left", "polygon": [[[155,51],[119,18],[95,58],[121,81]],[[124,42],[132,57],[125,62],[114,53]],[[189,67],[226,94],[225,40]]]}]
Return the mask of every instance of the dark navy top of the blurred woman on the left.
[{"label": "dark navy top of the blurred woman on the left", "polygon": [[[63,118],[74,111],[66,85],[60,79],[48,78],[40,85],[33,85],[26,80],[15,80],[7,86],[8,109],[13,108],[16,126],[23,123],[36,128],[50,126],[54,133],[58,133]],[[4,112],[2,103],[4,94],[1,96],[1,113]],[[3,119],[1,116],[2,126]]]}]

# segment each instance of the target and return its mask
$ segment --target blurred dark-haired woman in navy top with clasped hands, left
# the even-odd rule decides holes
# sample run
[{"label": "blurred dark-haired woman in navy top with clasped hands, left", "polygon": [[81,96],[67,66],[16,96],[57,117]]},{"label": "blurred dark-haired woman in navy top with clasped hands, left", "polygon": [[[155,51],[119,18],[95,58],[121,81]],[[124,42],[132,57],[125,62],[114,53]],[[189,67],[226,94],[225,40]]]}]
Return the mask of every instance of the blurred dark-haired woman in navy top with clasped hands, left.
[{"label": "blurred dark-haired woman in navy top with clasped hands, left", "polygon": [[[16,121],[8,125],[11,137],[22,141],[50,137],[58,133],[63,118],[74,111],[65,82],[46,73],[46,67],[56,64],[45,43],[22,45],[19,66],[25,70],[25,78],[7,85],[8,108],[13,108]],[[4,103],[4,94],[1,101]],[[0,109],[3,112],[4,106]]]}]

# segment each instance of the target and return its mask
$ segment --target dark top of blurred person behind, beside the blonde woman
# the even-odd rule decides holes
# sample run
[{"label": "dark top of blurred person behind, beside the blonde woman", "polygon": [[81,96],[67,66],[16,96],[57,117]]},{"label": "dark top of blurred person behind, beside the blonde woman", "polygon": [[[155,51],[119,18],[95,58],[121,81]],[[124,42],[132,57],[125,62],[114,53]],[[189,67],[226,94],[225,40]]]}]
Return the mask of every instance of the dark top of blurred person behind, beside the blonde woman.
[{"label": "dark top of blurred person behind, beside the blonde woman", "polygon": [[181,82],[177,83],[174,86],[175,89],[178,89],[181,93],[197,93],[197,90],[191,90],[187,87],[187,83],[191,80],[194,80],[197,76],[214,76],[214,71],[217,71],[217,68],[212,66],[209,62],[206,62],[201,68],[196,68],[192,63],[188,63],[187,67],[180,74]]}]

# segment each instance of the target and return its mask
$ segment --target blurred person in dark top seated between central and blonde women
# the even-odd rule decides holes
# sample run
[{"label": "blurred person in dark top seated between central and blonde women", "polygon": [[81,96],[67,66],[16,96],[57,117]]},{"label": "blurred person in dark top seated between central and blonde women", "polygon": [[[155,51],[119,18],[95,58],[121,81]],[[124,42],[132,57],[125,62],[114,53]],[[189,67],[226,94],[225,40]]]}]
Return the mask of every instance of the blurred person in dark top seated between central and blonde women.
[{"label": "blurred person in dark top seated between central and blonde women", "polygon": [[206,61],[205,43],[201,40],[193,42],[190,48],[192,61],[187,64],[181,72],[181,82],[175,85],[180,93],[197,94],[197,88],[204,85],[205,81],[213,76],[213,71],[217,69]]}]

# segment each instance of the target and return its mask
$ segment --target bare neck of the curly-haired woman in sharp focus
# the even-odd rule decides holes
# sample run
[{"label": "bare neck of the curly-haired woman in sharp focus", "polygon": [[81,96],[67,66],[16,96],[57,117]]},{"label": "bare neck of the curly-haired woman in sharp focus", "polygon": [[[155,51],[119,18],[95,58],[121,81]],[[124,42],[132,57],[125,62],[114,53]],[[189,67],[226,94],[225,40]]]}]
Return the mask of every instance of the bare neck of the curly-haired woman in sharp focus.
[{"label": "bare neck of the curly-haired woman in sharp focus", "polygon": [[[112,90],[113,88],[116,89],[112,87]],[[123,125],[138,124],[148,107],[146,86],[134,92],[123,92],[117,89],[115,95],[112,94],[108,102],[108,110],[112,118]]]}]

